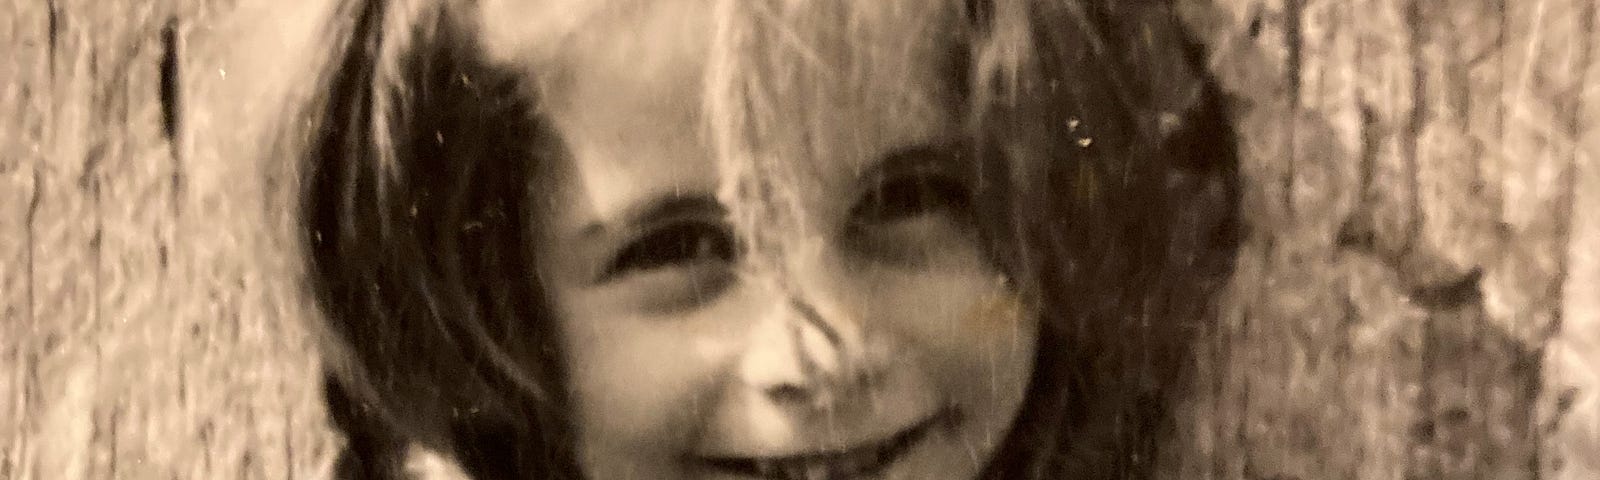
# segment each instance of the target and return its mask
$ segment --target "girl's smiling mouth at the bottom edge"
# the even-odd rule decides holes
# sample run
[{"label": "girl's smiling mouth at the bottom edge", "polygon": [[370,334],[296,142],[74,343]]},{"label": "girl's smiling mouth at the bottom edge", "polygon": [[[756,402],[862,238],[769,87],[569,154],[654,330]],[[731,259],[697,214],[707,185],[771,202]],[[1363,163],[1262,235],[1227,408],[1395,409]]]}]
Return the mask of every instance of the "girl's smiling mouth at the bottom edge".
[{"label": "girl's smiling mouth at the bottom edge", "polygon": [[784,456],[699,456],[696,461],[725,474],[758,478],[813,480],[875,477],[894,464],[894,461],[904,458],[936,426],[952,424],[957,418],[954,411],[934,413],[882,440],[864,442],[842,450]]}]

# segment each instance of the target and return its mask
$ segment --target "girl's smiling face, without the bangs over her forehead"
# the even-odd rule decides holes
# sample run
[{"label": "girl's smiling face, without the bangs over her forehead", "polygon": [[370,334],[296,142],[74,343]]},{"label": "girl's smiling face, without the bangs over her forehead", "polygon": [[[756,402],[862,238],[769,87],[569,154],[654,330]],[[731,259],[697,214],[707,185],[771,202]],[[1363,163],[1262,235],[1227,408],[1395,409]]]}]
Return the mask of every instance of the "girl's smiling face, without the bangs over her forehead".
[{"label": "girl's smiling face, without the bangs over her forehead", "polygon": [[[592,478],[973,478],[1022,403],[1037,317],[978,238],[939,53],[899,48],[914,30],[880,35],[896,54],[874,69],[898,75],[784,126],[808,142],[784,158],[806,174],[782,181],[786,224],[803,227],[749,250],[702,128],[707,3],[629,3],[538,62],[557,72],[536,83],[566,155],[542,173],[534,254],[581,466]],[[555,40],[520,27],[525,5],[490,2],[485,27],[491,53],[533,72],[526,59]],[[893,10],[864,18],[893,24]]]}]

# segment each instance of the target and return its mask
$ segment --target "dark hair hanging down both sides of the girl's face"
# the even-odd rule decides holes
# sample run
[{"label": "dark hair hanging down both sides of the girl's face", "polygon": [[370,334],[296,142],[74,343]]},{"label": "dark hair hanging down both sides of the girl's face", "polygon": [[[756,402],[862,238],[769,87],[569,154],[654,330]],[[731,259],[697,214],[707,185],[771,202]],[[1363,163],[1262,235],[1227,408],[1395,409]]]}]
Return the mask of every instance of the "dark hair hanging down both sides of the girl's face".
[{"label": "dark hair hanging down both sides of the girl's face", "polygon": [[[982,230],[1043,325],[989,475],[1144,477],[1237,248],[1222,98],[1166,2],[952,5]],[[341,472],[394,477],[416,442],[482,478],[579,477],[526,248],[560,141],[458,6],[350,5],[317,102],[302,211]]]}]

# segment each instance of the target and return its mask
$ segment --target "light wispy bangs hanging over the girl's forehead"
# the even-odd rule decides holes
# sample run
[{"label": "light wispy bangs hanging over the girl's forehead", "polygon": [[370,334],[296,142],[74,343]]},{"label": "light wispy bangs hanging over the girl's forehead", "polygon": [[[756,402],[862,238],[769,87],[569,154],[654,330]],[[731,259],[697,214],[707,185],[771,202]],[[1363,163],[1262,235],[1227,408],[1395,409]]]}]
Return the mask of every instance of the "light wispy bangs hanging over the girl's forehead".
[{"label": "light wispy bangs hanging over the girl's forehead", "polygon": [[[704,72],[704,131],[734,227],[752,251],[805,234],[798,197],[824,158],[886,134],[826,134],[845,107],[882,118],[926,112],[962,122],[962,2],[722,0]],[[931,75],[930,75],[931,74]],[[928,85],[933,78],[934,85]],[[904,88],[904,86],[914,88]],[[843,149],[843,152],[842,152]],[[762,256],[752,256],[762,258]]]}]

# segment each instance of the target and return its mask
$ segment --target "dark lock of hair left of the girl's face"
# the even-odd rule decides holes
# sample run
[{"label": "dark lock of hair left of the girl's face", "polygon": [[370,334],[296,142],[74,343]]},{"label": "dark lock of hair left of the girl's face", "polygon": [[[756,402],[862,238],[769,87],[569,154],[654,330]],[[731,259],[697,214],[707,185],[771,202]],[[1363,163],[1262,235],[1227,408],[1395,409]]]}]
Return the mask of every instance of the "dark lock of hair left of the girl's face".
[{"label": "dark lock of hair left of the girl's face", "polygon": [[358,8],[307,150],[328,406],[355,453],[341,470],[392,477],[402,442],[421,442],[477,477],[560,478],[571,470],[552,414],[562,398],[530,389],[560,382],[557,357],[549,342],[507,341],[550,338],[528,322],[542,296],[520,246],[536,227],[528,158],[555,141],[518,78],[486,67],[454,19],[392,30],[382,24],[398,11],[386,6]]}]

